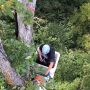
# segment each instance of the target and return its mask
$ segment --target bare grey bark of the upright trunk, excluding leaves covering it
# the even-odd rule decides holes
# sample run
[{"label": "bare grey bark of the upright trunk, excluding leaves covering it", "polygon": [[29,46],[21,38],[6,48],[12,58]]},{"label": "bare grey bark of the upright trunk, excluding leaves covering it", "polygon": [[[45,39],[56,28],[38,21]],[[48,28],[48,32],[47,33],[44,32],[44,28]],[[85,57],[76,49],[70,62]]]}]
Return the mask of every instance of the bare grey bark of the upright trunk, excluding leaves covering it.
[{"label": "bare grey bark of the upright trunk, excluding leaves covering it", "polygon": [[[34,16],[36,0],[32,0],[32,2],[29,2],[28,0],[18,0],[18,1],[25,4],[27,6],[29,12],[31,12],[33,14],[33,16]],[[33,19],[33,16],[32,16],[31,19]],[[25,44],[31,44],[31,42],[32,42],[33,24],[31,24],[31,25],[24,24],[21,17],[22,17],[22,15],[20,13],[17,14],[19,38]]]}]

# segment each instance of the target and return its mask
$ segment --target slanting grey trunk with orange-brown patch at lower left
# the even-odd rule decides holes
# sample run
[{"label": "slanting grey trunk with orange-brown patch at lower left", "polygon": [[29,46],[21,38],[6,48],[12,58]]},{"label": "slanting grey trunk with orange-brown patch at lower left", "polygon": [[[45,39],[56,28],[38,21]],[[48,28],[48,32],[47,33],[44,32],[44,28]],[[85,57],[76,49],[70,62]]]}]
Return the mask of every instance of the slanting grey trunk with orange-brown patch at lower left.
[{"label": "slanting grey trunk with orange-brown patch at lower left", "polygon": [[15,70],[11,67],[7,55],[3,49],[3,45],[0,39],[0,70],[3,73],[5,80],[8,84],[13,86],[23,86],[24,81],[20,75],[17,75]]}]

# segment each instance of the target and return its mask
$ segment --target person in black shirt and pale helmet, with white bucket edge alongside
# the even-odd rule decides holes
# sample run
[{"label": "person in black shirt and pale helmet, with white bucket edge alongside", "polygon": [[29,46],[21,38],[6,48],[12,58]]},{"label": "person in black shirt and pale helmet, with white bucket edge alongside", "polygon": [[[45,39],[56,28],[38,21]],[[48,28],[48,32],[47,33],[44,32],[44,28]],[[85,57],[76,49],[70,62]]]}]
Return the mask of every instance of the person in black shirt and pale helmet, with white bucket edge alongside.
[{"label": "person in black shirt and pale helmet, with white bucket edge alongside", "polygon": [[42,44],[37,48],[38,59],[37,63],[47,66],[48,69],[45,73],[46,76],[54,77],[55,70],[57,68],[60,53],[49,44]]}]

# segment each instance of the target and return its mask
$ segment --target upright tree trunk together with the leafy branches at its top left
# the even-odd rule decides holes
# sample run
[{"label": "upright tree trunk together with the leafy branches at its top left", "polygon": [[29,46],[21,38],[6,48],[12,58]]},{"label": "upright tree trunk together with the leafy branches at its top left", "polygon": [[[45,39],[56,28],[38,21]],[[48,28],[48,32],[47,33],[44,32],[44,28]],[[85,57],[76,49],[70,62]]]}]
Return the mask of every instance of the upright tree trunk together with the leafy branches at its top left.
[{"label": "upright tree trunk together with the leafy branches at its top left", "polygon": [[15,18],[16,37],[20,38],[25,44],[32,42],[35,6],[36,0],[0,1],[0,16],[5,15]]}]

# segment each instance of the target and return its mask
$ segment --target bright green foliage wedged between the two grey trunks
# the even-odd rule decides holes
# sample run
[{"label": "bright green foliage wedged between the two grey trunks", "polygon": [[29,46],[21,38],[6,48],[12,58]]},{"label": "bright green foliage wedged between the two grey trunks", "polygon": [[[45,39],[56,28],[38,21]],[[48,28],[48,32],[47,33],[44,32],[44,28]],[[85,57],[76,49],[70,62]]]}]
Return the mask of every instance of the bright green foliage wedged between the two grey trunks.
[{"label": "bright green foliage wedged between the two grey trunks", "polygon": [[[27,63],[32,64],[31,62],[34,60],[35,47],[33,45],[27,47],[20,41],[7,39],[4,41],[4,48],[9,61],[15,67],[16,71],[24,75],[27,72]],[[27,60],[25,59],[27,56],[31,56],[32,58]]]}]

